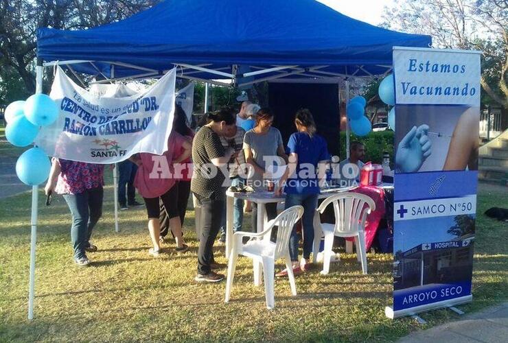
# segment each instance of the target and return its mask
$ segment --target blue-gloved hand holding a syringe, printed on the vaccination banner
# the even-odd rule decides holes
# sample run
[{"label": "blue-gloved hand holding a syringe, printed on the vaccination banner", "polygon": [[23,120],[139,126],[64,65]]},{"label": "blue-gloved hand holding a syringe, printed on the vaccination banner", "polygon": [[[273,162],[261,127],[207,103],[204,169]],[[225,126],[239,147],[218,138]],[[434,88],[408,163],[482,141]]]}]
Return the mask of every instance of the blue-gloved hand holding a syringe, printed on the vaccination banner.
[{"label": "blue-gloved hand holding a syringe, printed on the vaccination banner", "polygon": [[397,147],[396,169],[402,173],[418,171],[432,153],[431,147],[432,143],[428,139],[428,125],[423,124],[418,128],[413,126]]}]

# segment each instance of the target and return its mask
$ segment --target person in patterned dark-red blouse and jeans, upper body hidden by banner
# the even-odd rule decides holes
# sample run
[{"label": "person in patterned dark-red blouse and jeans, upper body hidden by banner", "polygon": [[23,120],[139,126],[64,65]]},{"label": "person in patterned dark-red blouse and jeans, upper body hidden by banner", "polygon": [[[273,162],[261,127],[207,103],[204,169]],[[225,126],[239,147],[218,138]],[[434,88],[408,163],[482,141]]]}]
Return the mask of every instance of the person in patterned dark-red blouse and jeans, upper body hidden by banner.
[{"label": "person in patterned dark-red blouse and jeans, upper body hidden by banner", "polygon": [[45,187],[46,195],[62,194],[72,215],[71,241],[74,262],[89,265],[86,252],[97,251],[91,244],[92,230],[102,215],[104,165],[53,158]]}]

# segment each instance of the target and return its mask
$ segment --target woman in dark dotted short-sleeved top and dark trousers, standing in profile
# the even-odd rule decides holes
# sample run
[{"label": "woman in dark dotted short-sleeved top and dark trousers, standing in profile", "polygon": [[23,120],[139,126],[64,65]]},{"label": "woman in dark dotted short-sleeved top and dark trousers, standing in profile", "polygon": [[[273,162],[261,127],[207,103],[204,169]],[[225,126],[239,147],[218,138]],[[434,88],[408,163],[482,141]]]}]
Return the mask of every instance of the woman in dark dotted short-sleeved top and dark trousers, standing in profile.
[{"label": "woman in dark dotted short-sleeved top and dark trousers, standing in profile", "polygon": [[191,190],[201,204],[202,223],[198,274],[194,279],[197,282],[218,282],[224,279],[224,275],[211,270],[217,266],[213,259],[213,242],[220,230],[226,202],[224,180],[227,169],[224,171],[218,167],[224,167],[234,150],[232,148],[224,150],[220,136],[232,137],[236,132],[235,116],[229,108],[209,113],[208,117],[211,121],[200,128],[192,143],[194,174]]}]

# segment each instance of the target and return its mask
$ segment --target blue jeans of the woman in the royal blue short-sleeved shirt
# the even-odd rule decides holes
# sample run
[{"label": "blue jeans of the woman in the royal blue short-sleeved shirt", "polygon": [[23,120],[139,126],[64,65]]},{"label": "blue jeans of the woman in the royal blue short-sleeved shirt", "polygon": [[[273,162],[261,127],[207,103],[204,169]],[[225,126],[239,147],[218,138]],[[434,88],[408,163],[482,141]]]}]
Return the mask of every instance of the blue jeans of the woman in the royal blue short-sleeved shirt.
[{"label": "blue jeans of the woman in the royal blue short-sleeved shirt", "polygon": [[[314,243],[314,212],[317,206],[317,194],[287,194],[286,209],[291,206],[303,206],[303,258],[309,259]],[[298,235],[296,226],[291,232],[289,239],[289,255],[291,261],[298,261]]]}]

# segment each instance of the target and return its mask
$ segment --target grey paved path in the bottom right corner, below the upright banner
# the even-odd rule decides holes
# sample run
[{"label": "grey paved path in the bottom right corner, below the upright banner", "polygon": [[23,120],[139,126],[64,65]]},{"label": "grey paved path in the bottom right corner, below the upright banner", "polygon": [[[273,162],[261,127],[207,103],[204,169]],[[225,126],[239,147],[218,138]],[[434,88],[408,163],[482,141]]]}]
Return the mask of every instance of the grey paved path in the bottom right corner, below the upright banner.
[{"label": "grey paved path in the bottom right corner, below the upright banner", "polygon": [[457,322],[411,333],[399,342],[508,342],[508,303],[464,315]]}]

